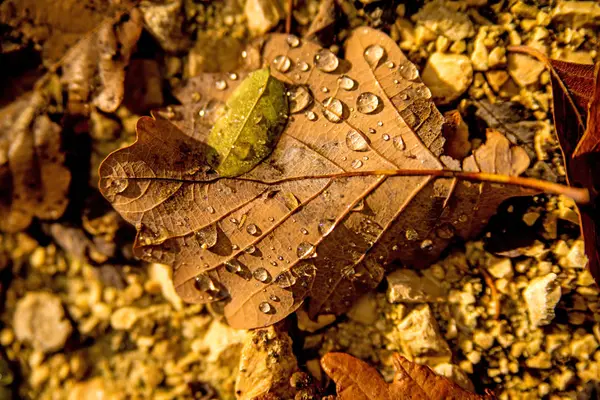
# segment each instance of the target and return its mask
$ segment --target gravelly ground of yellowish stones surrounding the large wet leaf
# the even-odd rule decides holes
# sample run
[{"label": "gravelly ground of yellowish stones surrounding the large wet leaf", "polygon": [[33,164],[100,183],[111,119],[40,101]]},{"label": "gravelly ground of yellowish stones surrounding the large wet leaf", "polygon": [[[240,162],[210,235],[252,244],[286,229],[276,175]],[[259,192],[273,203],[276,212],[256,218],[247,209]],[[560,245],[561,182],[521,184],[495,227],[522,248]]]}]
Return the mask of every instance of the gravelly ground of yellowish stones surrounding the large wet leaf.
[{"label": "gravelly ground of yellowish stones surrounding the large wet leaf", "polygon": [[[283,6],[164,3],[149,3],[145,12],[169,16],[184,10],[189,32],[178,36],[164,24],[150,24],[153,40],[189,51],[183,57],[165,53],[160,62],[135,61],[131,68],[141,71],[140,80],[164,79],[172,87],[200,71],[228,69],[244,38],[282,29],[285,18]],[[321,4],[297,3],[293,30],[301,34]],[[542,63],[507,48],[527,45],[553,58],[598,61],[600,5],[390,3],[340,0],[335,40],[327,29],[318,37],[339,51],[348,27],[385,30],[419,66],[440,109],[460,111],[464,124],[455,134],[468,134],[470,146],[477,147],[483,128],[495,127],[527,149],[528,175],[564,181],[549,73]],[[148,89],[141,98],[146,105],[162,104],[162,93]],[[135,104],[126,102],[110,117],[92,114],[92,184],[102,158],[133,139]],[[399,267],[347,315],[311,321],[298,312],[283,324],[253,332],[229,328],[219,310],[183,304],[170,268],[133,260],[131,230],[105,204],[97,204],[88,198],[68,227],[36,226],[0,236],[5,297],[0,398],[8,396],[11,380],[22,398],[85,399],[102,393],[248,399],[268,387],[283,399],[321,398],[333,393],[318,361],[329,351],[369,361],[388,379],[391,355],[400,352],[465,388],[490,388],[500,399],[599,396],[599,291],[584,269],[577,215],[565,198],[509,201],[479,240],[457,243],[428,269]],[[119,248],[119,257],[105,255],[111,246]]]}]

